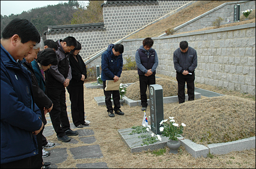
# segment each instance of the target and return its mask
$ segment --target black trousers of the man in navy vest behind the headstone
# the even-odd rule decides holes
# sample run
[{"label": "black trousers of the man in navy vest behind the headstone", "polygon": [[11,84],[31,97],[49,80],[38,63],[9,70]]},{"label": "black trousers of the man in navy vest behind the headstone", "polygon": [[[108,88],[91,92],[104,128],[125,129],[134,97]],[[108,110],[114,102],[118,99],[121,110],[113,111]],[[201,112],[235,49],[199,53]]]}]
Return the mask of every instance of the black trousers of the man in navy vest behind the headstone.
[{"label": "black trousers of the man in navy vest behind the headstone", "polygon": [[150,85],[156,84],[156,76],[150,75],[139,75],[140,80],[140,99],[141,99],[141,106],[147,107],[147,96],[146,96],[146,90],[150,87]]}]

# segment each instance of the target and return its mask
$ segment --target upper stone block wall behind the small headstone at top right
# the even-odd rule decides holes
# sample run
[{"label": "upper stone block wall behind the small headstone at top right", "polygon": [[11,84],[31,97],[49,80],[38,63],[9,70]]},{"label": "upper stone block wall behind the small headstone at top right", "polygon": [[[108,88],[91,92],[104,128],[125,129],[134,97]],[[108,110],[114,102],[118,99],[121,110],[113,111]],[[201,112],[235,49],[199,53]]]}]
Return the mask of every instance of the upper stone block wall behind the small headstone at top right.
[{"label": "upper stone block wall behind the small headstone at top right", "polygon": [[212,22],[218,17],[223,18],[223,22],[227,22],[227,19],[233,21],[233,8],[236,4],[240,4],[240,17],[242,16],[242,11],[247,9],[255,10],[255,1],[228,2],[206,12],[203,15],[200,15],[200,17],[194,18],[187,23],[178,26],[177,29],[175,29],[176,33],[195,31],[205,27],[211,27]]}]

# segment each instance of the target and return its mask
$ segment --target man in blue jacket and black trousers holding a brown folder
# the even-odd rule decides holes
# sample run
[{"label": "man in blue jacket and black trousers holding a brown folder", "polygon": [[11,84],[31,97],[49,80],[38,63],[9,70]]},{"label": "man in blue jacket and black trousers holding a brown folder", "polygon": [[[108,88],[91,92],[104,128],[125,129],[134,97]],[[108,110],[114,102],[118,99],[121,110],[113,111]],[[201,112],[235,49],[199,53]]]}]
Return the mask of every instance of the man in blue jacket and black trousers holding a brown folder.
[{"label": "man in blue jacket and black trousers holding a brown folder", "polygon": [[105,91],[106,80],[114,80],[116,82],[122,73],[123,67],[123,45],[110,44],[108,49],[101,54],[101,80],[103,81],[103,90],[105,95],[106,108],[108,109],[109,117],[115,117],[111,102],[111,95],[114,101],[114,111],[117,115],[124,115],[120,110],[120,94],[117,91]]}]

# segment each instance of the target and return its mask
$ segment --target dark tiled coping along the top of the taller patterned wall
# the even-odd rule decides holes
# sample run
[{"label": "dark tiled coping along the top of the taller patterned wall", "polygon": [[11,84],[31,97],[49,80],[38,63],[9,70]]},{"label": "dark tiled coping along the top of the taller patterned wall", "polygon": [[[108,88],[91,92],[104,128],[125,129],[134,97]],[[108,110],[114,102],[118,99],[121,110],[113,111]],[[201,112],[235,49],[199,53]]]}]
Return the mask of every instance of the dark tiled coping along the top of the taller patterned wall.
[{"label": "dark tiled coping along the top of the taller patterned wall", "polygon": [[121,7],[121,6],[142,6],[158,5],[158,1],[107,1],[101,4],[101,7]]}]

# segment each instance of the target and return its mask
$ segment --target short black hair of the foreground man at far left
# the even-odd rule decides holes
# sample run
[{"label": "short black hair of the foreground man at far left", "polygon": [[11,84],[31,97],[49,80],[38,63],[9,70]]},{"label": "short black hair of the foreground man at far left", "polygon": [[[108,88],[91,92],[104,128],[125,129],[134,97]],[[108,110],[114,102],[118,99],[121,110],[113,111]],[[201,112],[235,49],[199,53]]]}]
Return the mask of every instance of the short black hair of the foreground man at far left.
[{"label": "short black hair of the foreground man at far left", "polygon": [[40,42],[39,32],[28,19],[15,18],[11,20],[2,32],[2,38],[10,39],[15,34],[20,37],[22,43],[27,43],[28,41]]}]

